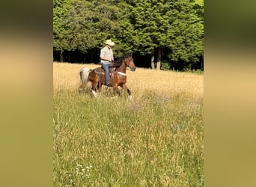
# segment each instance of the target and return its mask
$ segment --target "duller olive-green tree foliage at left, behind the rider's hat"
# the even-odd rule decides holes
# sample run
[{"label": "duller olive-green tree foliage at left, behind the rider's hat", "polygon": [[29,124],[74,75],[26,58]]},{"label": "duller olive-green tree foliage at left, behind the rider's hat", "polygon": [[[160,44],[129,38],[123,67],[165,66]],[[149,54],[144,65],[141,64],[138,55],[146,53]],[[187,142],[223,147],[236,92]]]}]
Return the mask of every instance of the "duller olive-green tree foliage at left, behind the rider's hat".
[{"label": "duller olive-green tree foliage at left, behind the rider's hat", "polygon": [[[115,6],[117,1],[63,0],[54,4],[58,5],[54,7],[53,21],[56,50],[86,53],[88,49],[100,48],[108,38],[118,41],[121,11]],[[115,46],[117,53],[121,49],[118,44]]]}]

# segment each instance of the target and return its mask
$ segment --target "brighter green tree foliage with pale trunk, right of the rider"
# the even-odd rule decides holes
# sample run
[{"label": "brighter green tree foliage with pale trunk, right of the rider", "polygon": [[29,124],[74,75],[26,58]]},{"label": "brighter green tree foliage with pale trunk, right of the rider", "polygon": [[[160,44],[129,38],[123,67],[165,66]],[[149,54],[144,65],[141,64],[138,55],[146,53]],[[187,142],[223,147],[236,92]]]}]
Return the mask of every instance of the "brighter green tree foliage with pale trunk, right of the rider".
[{"label": "brighter green tree foliage with pale trunk, right of the rider", "polygon": [[[127,1],[128,2],[128,1]],[[203,53],[202,1],[129,1],[123,38],[131,38],[133,49],[144,54],[157,51],[160,69],[162,49],[170,49],[172,61],[198,61]]]}]

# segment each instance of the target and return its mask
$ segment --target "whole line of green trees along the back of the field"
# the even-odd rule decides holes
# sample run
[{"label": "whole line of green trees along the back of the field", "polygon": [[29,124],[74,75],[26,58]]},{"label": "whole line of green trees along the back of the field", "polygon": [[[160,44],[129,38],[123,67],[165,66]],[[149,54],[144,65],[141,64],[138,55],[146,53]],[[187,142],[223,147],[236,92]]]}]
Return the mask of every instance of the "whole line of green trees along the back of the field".
[{"label": "whole line of green trees along the back of the field", "polygon": [[55,60],[97,63],[107,39],[138,67],[203,70],[204,1],[53,1]]}]

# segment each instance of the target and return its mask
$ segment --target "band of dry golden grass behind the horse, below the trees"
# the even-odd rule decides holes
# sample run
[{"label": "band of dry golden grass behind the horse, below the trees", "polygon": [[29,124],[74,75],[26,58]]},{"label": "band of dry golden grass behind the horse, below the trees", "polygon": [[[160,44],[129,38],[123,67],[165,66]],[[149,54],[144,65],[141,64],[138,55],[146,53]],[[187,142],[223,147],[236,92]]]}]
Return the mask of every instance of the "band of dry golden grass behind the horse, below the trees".
[{"label": "band of dry golden grass behind the horse, below the trees", "polygon": [[[79,70],[83,67],[94,69],[97,64],[53,64],[54,88],[77,90],[79,88]],[[135,72],[127,70],[127,87],[132,91],[154,91],[162,94],[189,93],[192,96],[204,95],[204,76],[197,73],[177,73],[137,68]]]}]

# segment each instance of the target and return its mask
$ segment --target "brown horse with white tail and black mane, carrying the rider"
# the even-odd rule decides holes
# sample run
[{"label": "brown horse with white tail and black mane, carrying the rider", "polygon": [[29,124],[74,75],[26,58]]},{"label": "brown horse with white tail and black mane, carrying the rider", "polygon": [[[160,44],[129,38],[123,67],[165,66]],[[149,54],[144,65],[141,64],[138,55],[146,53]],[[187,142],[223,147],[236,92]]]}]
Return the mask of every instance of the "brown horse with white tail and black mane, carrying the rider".
[{"label": "brown horse with white tail and black mane, carrying the rider", "polygon": [[[131,71],[135,71],[136,67],[132,58],[132,55],[124,55],[112,63],[109,67],[109,80],[112,83],[111,87],[114,89],[115,95],[120,95],[120,90],[118,87],[127,91],[129,99],[132,98],[131,91],[127,88],[127,67]],[[83,88],[87,85],[88,82],[91,82],[91,90],[94,96],[97,96],[97,91],[100,91],[102,85],[106,85],[105,80],[105,71],[102,67],[97,67],[94,70],[91,70],[88,67],[82,68],[79,72],[81,85],[79,86],[79,91],[82,91]]]}]

